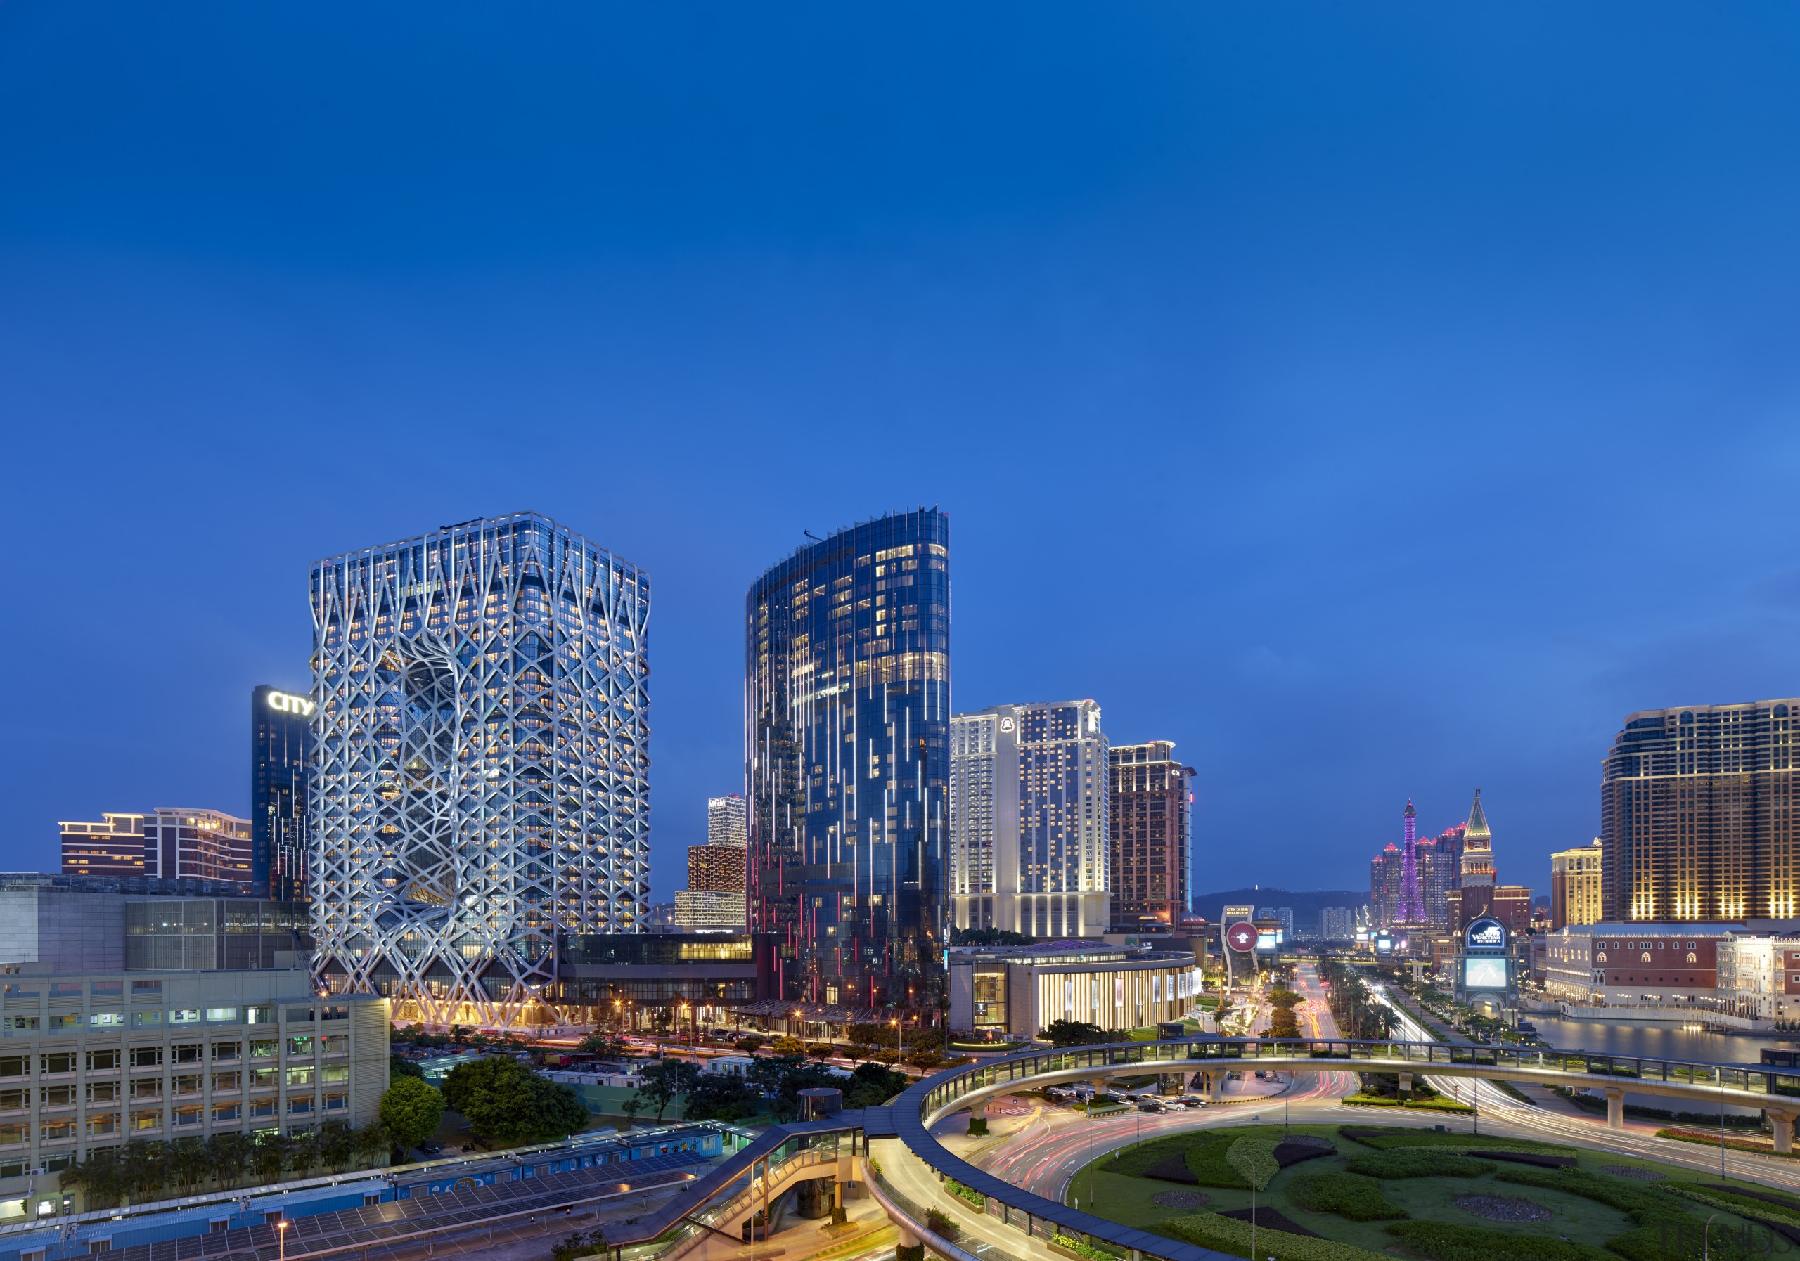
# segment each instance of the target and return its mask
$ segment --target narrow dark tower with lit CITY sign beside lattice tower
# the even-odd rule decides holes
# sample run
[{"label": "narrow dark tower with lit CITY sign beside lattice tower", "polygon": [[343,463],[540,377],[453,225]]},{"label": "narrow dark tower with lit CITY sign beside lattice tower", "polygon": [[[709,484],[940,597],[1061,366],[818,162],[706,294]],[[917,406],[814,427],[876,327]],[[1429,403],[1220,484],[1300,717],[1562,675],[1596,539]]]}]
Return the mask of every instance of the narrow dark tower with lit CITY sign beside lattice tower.
[{"label": "narrow dark tower with lit CITY sign beside lattice tower", "polygon": [[250,693],[250,883],[272,901],[306,901],[313,709],[266,684]]}]

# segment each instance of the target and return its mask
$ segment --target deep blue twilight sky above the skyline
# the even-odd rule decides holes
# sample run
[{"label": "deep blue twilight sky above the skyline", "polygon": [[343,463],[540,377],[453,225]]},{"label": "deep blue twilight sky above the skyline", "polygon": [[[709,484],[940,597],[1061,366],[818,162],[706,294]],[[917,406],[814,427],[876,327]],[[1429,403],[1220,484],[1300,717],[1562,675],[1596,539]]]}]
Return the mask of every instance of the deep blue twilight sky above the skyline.
[{"label": "deep blue twilight sky above the skyline", "polygon": [[1202,889],[1503,880],[1620,718],[1800,693],[1800,11],[0,4],[0,867],[248,809],[306,567],[653,576],[655,896],[742,601],[952,520],[954,703],[1199,768]]}]

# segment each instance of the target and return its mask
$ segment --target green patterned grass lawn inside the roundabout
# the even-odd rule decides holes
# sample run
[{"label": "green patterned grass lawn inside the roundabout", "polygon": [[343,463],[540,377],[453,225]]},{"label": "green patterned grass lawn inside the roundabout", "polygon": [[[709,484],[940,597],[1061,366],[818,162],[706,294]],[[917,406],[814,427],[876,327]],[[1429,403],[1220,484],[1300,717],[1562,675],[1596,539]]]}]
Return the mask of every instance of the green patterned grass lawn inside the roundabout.
[{"label": "green patterned grass lawn inside the roundabout", "polygon": [[[1071,1203],[1080,1202],[1080,1207],[1094,1211],[1089,1202],[1089,1176],[1093,1176],[1093,1196],[1098,1202],[1098,1214],[1118,1221],[1121,1225],[1154,1229],[1168,1218],[1186,1216],[1188,1211],[1163,1209],[1150,1203],[1150,1198],[1159,1191],[1174,1189],[1199,1189],[1213,1198],[1210,1209],[1244,1209],[1251,1203],[1251,1193],[1247,1189],[1237,1191],[1229,1187],[1181,1187],[1174,1182],[1159,1182],[1152,1178],[1138,1176],[1143,1169],[1157,1164],[1159,1160],[1184,1151],[1195,1142],[1220,1144],[1220,1151],[1233,1139],[1255,1133],[1258,1137],[1280,1139],[1283,1135],[1282,1126],[1229,1126],[1219,1130],[1199,1130],[1186,1131],[1179,1135],[1170,1135],[1166,1139],[1157,1139],[1154,1142],[1145,1142],[1138,1148],[1125,1148],[1116,1157],[1112,1153],[1102,1157],[1094,1166],[1082,1169],[1071,1182]],[[1258,1205],[1267,1205],[1285,1212],[1294,1221],[1301,1223],[1309,1230],[1316,1230],[1330,1239],[1341,1243],[1350,1243],[1372,1252],[1384,1252],[1397,1243],[1393,1236],[1386,1232],[1386,1221],[1350,1221],[1348,1218],[1336,1212],[1310,1212],[1294,1196],[1289,1194],[1289,1187],[1301,1178],[1316,1178],[1327,1173],[1343,1173],[1348,1166],[1348,1158],[1354,1155],[1375,1155],[1377,1149],[1354,1142],[1337,1133],[1337,1126],[1292,1126],[1289,1133],[1294,1135],[1318,1135],[1330,1139],[1337,1149],[1337,1157],[1325,1157],[1321,1160],[1307,1160],[1291,1166],[1278,1173],[1269,1184],[1267,1191],[1256,1194]],[[1579,1167],[1591,1175],[1609,1176],[1600,1173],[1600,1166],[1634,1166],[1654,1169],[1667,1175],[1670,1180],[1705,1180],[1710,1178],[1696,1176],[1692,1169],[1681,1169],[1678,1166],[1663,1166],[1651,1160],[1633,1160],[1629,1157],[1618,1157],[1611,1151],[1597,1151],[1591,1148],[1571,1148],[1528,1140],[1508,1140],[1508,1139],[1474,1139],[1467,1133],[1436,1133],[1433,1130],[1413,1131],[1408,1135],[1418,1144],[1444,1146],[1444,1148],[1489,1148],[1489,1149],[1507,1149],[1507,1148],[1530,1148],[1546,1151],[1564,1151],[1575,1153],[1579,1157]],[[1386,1148],[1388,1142],[1381,1140]],[[1445,1153],[1447,1155],[1447,1153]],[[1190,1162],[1192,1164],[1192,1162]],[[1525,1169],[1526,1166],[1508,1166],[1501,1162],[1498,1171],[1508,1167]],[[1652,1182],[1627,1182],[1618,1180],[1633,1189],[1652,1187]],[[1494,1173],[1483,1173],[1478,1176],[1424,1176],[1424,1178],[1393,1178],[1382,1180],[1381,1191],[1386,1194],[1388,1202],[1397,1209],[1402,1209],[1408,1218],[1420,1221],[1444,1221],[1460,1227],[1483,1227],[1489,1230],[1505,1230],[1508,1234],[1523,1236],[1541,1236],[1548,1239],[1568,1239],[1571,1243],[1584,1243],[1591,1247],[1604,1247],[1607,1239],[1622,1236],[1634,1229],[1631,1218],[1624,1211],[1591,1200],[1588,1196],[1579,1196],[1557,1187],[1535,1187],[1521,1185],[1516,1182],[1496,1180]],[[1489,1194],[1489,1196],[1508,1196],[1525,1198],[1548,1209],[1553,1216],[1541,1223],[1508,1223],[1508,1221],[1489,1221],[1476,1218],[1454,1205],[1454,1200],[1463,1194]],[[1687,1203],[1687,1211],[1696,1211],[1699,1205]],[[1712,1209],[1701,1209],[1694,1218],[1699,1223],[1708,1216]],[[1714,1229],[1730,1220],[1730,1229],[1737,1230],[1742,1227],[1742,1220],[1732,1218],[1732,1214],[1719,1214]]]}]

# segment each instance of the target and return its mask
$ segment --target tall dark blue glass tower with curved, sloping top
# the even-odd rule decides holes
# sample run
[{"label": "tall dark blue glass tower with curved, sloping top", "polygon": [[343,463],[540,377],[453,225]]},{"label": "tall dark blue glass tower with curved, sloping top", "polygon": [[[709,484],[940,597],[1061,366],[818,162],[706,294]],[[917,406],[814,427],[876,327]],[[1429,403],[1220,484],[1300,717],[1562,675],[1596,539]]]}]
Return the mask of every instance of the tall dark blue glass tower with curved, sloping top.
[{"label": "tall dark blue glass tower with curved, sloping top", "polygon": [[751,932],[772,998],[936,1002],[949,824],[950,520],[880,516],[745,597]]}]

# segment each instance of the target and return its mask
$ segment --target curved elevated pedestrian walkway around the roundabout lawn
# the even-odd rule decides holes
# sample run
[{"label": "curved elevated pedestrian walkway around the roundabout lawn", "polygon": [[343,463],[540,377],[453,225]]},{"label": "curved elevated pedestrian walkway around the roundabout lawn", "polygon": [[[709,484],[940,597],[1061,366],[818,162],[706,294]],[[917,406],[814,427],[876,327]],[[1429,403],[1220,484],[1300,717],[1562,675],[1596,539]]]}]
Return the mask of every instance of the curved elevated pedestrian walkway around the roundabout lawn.
[{"label": "curved elevated pedestrian walkway around the roundabout lawn", "polygon": [[[1051,1236],[1091,1238],[1129,1261],[1215,1261],[1222,1254],[1105,1221],[1031,1194],[952,1155],[931,1128],[959,1112],[981,1115],[994,1096],[1120,1074],[1199,1074],[1210,1087],[1228,1072],[1393,1072],[1411,1076],[1534,1081],[1606,1092],[1607,1121],[1620,1124],[1624,1094],[1656,1094],[1710,1106],[1762,1108],[1787,1149],[1800,1113],[1800,1070],[1759,1065],[1685,1063],[1526,1047],[1453,1047],[1442,1042],[1348,1042],[1193,1038],[1130,1042],[1067,1051],[1028,1051],[947,1069],[914,1083],[884,1108],[776,1126],[731,1160],[689,1184],[664,1209],[625,1232],[608,1227],[610,1261],[715,1261],[742,1256],[743,1221],[767,1212],[797,1180],[862,1184],[900,1229],[902,1245],[923,1243],[947,1261],[1058,1261]],[[985,1196],[976,1209],[945,1194],[954,1178]],[[963,1225],[961,1239],[927,1227],[927,1209]]]}]

